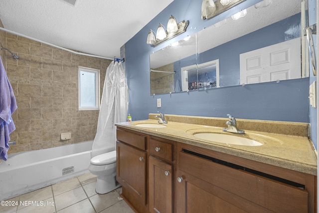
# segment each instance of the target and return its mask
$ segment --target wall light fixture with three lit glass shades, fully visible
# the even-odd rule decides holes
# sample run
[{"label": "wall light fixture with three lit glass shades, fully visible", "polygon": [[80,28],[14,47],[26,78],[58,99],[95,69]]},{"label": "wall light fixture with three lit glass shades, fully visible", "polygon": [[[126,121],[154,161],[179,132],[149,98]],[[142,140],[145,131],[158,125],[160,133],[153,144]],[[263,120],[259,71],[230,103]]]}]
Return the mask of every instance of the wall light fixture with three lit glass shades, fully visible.
[{"label": "wall light fixture with three lit glass shades, fully visible", "polygon": [[175,17],[170,15],[167,22],[167,30],[165,30],[165,27],[160,23],[156,32],[156,36],[152,29],[149,31],[146,43],[151,44],[152,46],[157,46],[160,43],[185,32],[187,26],[188,21],[183,20],[177,24]]}]

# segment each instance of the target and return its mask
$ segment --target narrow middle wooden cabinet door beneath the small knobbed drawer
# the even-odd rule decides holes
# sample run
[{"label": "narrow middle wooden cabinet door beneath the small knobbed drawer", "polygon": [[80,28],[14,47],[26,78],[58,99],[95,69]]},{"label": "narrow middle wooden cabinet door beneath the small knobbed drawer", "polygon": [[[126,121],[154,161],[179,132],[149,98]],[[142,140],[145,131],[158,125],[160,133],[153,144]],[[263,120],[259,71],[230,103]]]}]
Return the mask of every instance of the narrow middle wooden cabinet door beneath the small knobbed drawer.
[{"label": "narrow middle wooden cabinet door beneath the small knobbed drawer", "polygon": [[173,199],[172,166],[149,157],[149,195],[151,213],[171,213]]}]

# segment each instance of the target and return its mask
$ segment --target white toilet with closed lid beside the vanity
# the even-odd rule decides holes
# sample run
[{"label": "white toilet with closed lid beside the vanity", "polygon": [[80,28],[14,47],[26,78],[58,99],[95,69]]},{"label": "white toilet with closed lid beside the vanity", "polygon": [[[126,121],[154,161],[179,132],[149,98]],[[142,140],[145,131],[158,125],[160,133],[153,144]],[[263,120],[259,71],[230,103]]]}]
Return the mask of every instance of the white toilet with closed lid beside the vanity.
[{"label": "white toilet with closed lid beside the vanity", "polygon": [[98,194],[109,193],[121,186],[116,181],[116,151],[93,157],[89,171],[97,176],[95,191]]}]

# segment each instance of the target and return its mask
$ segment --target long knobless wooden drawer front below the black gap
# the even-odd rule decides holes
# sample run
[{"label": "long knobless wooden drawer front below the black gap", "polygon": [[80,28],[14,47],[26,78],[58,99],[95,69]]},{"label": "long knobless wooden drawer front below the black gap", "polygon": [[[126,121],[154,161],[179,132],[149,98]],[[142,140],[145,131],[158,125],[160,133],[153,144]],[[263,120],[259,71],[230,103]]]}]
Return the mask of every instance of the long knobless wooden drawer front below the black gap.
[{"label": "long knobless wooden drawer front below the black gap", "polygon": [[274,212],[308,212],[306,190],[205,157],[179,152],[179,170]]}]

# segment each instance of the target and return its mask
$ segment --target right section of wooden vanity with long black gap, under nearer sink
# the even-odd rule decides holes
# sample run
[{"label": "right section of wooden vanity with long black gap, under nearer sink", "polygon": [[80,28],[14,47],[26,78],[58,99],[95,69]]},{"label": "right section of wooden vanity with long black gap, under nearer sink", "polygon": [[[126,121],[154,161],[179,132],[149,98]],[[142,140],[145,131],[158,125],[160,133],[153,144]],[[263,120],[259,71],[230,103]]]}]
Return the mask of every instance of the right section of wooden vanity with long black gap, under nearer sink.
[{"label": "right section of wooden vanity with long black gap, under nearer sink", "polygon": [[177,150],[178,213],[316,212],[316,176],[186,144]]}]

